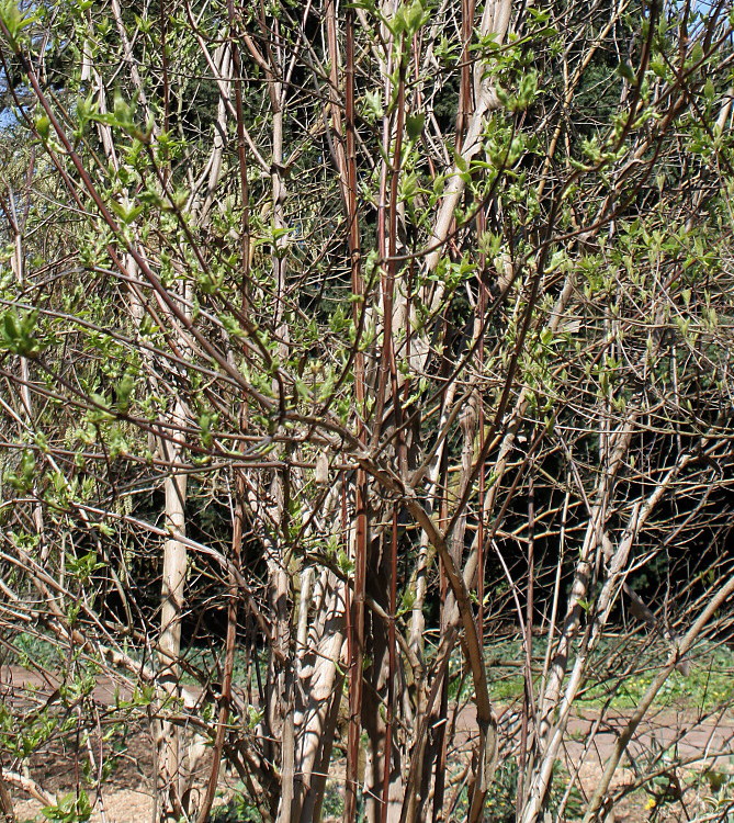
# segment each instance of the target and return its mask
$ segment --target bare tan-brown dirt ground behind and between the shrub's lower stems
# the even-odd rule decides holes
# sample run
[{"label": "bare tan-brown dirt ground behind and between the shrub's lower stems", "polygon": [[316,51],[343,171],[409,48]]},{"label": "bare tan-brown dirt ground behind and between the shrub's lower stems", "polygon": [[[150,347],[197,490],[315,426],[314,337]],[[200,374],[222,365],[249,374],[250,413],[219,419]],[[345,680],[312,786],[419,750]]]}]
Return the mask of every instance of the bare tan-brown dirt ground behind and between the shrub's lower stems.
[{"label": "bare tan-brown dirt ground behind and between the shrub's lower stems", "polygon": [[[0,688],[0,695],[5,701],[13,702],[16,710],[22,701],[25,701],[29,711],[34,711],[34,707],[42,704],[43,700],[52,697],[54,692],[53,683],[44,680],[35,673],[31,674],[16,667],[2,668]],[[56,735],[53,742],[42,746],[38,754],[31,759],[30,769],[20,777],[30,777],[48,794],[60,798],[74,791],[77,785],[89,786],[89,780],[82,779],[84,768],[89,768],[89,764],[95,764],[97,766],[91,769],[93,771],[102,759],[109,760],[112,751],[118,749],[110,774],[97,781],[101,790],[89,791],[90,800],[94,803],[91,821],[151,821],[153,739],[147,724],[111,724],[112,715],[106,707],[113,702],[114,691],[109,680],[100,678],[93,691],[94,706],[99,710],[99,724],[97,733],[92,734],[88,744],[77,745],[81,739],[75,743],[74,729],[69,729],[64,735]],[[470,708],[461,712],[458,729],[464,726],[467,735],[462,748],[471,747],[468,733],[473,726]],[[578,770],[580,791],[575,796],[577,810],[579,804],[583,808],[585,799],[598,785],[603,762],[612,752],[626,720],[624,714],[616,713],[605,718],[601,723],[598,713],[587,711],[574,717],[569,723],[568,743],[562,753],[562,764],[564,776],[576,774]],[[624,787],[633,786],[636,774],[643,768],[648,770],[651,753],[656,753],[656,767],[660,773],[654,785],[656,794],[644,790],[630,792],[616,805],[608,823],[673,823],[692,820],[705,810],[708,796],[718,791],[721,800],[721,792],[726,792],[727,786],[734,803],[734,717],[722,715],[705,719],[703,722],[698,721],[699,719],[689,712],[670,710],[653,714],[645,721],[630,745],[629,757],[624,760],[624,767],[616,775],[613,787],[622,790]],[[595,725],[597,730],[594,746],[587,751],[584,741]],[[673,768],[667,760],[668,751],[674,751],[681,760],[690,762],[690,767]],[[104,758],[101,756],[102,752]],[[5,770],[7,767],[8,764]],[[207,762],[203,758],[199,764],[194,791],[203,790],[210,767],[211,759]],[[712,777],[702,778],[707,769]],[[337,765],[336,771],[343,774],[343,768],[339,769]],[[338,780],[339,775],[336,771],[334,777]],[[720,779],[723,789],[718,787]],[[45,820],[41,813],[43,803],[13,786],[12,780],[10,782],[19,823]],[[217,804],[225,803],[233,796],[234,787],[234,779],[223,774]],[[725,797],[723,799],[726,800]],[[574,820],[575,816],[569,814],[566,820]],[[493,819],[488,816],[486,820],[490,822]],[[730,819],[722,816],[721,820],[725,822]]]}]

